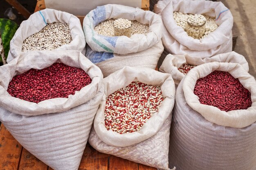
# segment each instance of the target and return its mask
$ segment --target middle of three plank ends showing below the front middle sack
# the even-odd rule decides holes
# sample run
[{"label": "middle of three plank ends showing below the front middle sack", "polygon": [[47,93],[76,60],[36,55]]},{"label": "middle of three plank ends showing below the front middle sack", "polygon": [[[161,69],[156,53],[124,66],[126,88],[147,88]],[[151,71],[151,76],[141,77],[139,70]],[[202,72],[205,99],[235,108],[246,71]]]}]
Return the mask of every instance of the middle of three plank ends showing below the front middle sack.
[{"label": "middle of three plank ends showing below the front middle sack", "polygon": [[108,170],[138,170],[138,163],[109,155]]}]

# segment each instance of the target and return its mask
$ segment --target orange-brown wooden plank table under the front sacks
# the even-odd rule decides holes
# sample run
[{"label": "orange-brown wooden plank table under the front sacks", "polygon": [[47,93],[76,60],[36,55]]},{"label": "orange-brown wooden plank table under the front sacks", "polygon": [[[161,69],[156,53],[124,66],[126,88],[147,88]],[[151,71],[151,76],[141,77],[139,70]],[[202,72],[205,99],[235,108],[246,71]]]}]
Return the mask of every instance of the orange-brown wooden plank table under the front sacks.
[{"label": "orange-brown wooden plank table under the front sacks", "polygon": [[[0,127],[0,170],[52,170],[52,168],[23,148],[2,124]],[[157,169],[98,152],[87,144],[79,170]]]}]

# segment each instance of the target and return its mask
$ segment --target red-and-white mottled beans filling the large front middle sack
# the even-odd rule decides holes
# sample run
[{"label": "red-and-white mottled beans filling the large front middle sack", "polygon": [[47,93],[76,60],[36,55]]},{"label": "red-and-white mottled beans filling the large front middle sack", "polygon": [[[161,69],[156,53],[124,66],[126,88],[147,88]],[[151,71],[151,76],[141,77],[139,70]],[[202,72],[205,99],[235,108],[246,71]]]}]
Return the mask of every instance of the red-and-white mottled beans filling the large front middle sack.
[{"label": "red-and-white mottled beans filling the large front middle sack", "polygon": [[137,132],[158,112],[163,100],[159,86],[132,82],[107,97],[105,127],[120,134]]}]

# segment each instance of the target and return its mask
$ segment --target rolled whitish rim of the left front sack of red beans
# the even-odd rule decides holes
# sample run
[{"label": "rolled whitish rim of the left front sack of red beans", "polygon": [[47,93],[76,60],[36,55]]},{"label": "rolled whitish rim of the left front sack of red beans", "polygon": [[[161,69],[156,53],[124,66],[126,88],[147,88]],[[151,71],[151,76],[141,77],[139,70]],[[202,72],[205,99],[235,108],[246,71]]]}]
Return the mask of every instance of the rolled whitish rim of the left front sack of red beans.
[{"label": "rolled whitish rim of the left front sack of red beans", "polygon": [[[31,62],[33,63],[36,63],[36,61],[38,61],[38,65],[28,66],[26,68],[26,71],[28,71],[31,68],[38,69],[36,67],[40,67],[40,65],[42,65],[43,63],[42,61],[40,62],[41,59],[37,55],[43,55],[44,53],[47,53],[48,55],[48,57],[44,56],[45,58],[43,59],[43,60],[47,60],[48,62],[48,64],[44,66],[44,68],[51,66],[55,62],[62,62],[63,64],[66,64],[68,66],[74,65],[74,63],[76,63],[76,64],[79,64],[80,66],[78,68],[83,69],[89,75],[89,77],[92,79],[92,82],[87,86],[84,86],[83,88],[81,88],[80,91],[76,91],[74,95],[69,95],[68,98],[59,97],[59,98],[47,99],[36,104],[34,102],[28,102],[16,97],[12,97],[7,92],[9,82],[11,81],[12,78],[8,80],[9,82],[7,86],[3,85],[4,80],[2,79],[0,81],[0,94],[3,98],[2,100],[0,100],[0,107],[8,111],[11,111],[13,113],[16,113],[18,115],[25,115],[25,116],[43,115],[48,113],[60,113],[60,112],[69,110],[70,108],[79,106],[85,102],[88,102],[99,92],[102,81],[103,81],[103,75],[99,67],[92,64],[92,62],[90,62],[90,60],[88,60],[80,51],[59,51],[57,57],[52,57],[56,55],[56,51],[26,52],[21,54],[19,57],[16,57],[15,59],[11,60],[9,64],[5,64],[4,66],[2,66],[0,70],[7,68],[6,70],[7,71],[9,70],[10,77],[14,77],[18,74],[22,74],[19,72],[17,73],[17,70],[19,67],[18,66],[19,64],[17,63],[19,62],[25,63],[28,60],[32,60]],[[29,54],[29,56],[26,56],[27,54]],[[74,56],[77,56],[77,57],[74,57]],[[72,62],[74,63],[65,62],[67,57],[69,57],[70,60],[72,60]],[[10,71],[12,71],[12,73],[10,73]],[[90,95],[88,95],[89,93]],[[70,104],[70,103],[73,103],[73,104]],[[53,108],[54,108],[54,111],[53,111]]]}]

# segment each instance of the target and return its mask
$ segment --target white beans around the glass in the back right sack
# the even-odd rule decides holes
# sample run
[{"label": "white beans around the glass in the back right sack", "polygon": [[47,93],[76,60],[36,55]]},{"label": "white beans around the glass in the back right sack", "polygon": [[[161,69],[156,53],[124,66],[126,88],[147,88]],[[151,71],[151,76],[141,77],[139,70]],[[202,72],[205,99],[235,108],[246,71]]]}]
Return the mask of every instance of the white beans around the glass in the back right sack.
[{"label": "white beans around the glass in the back right sack", "polygon": [[[182,27],[184,31],[186,31],[186,24],[187,24],[187,19],[189,16],[193,16],[193,14],[184,14],[182,12],[173,12],[173,18],[176,21],[177,25]],[[209,33],[215,31],[218,28],[218,25],[216,24],[216,20],[213,17],[210,17],[208,15],[203,15],[206,18],[206,23],[205,23],[205,32],[202,38],[205,38]],[[192,37],[192,35],[189,35]]]}]

